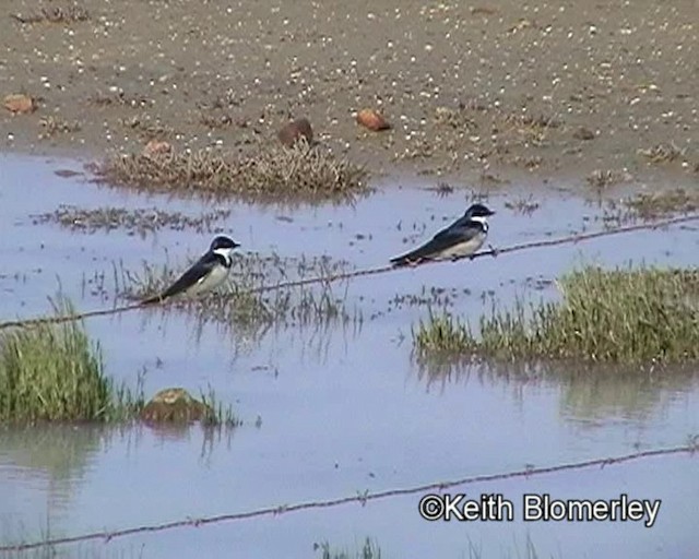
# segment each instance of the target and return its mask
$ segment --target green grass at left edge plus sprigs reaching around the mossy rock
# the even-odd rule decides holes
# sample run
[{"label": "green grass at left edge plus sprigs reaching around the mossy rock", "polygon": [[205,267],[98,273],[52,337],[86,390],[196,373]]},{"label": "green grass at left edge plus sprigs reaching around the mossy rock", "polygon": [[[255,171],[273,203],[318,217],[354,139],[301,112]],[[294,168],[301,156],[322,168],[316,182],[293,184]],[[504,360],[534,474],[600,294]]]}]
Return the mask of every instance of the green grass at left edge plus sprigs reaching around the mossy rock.
[{"label": "green grass at left edge plus sprigs reaching around the mossy rock", "polygon": [[[74,314],[67,299],[55,304],[56,318]],[[154,397],[146,405],[143,376],[144,372],[139,376],[135,390],[116,384],[105,372],[99,344],[91,342],[80,320],[8,330],[0,334],[0,423],[115,424],[137,418],[158,423],[199,420],[205,427],[235,427],[240,423],[233,407],[224,405],[211,388],[208,393],[202,392],[201,402],[182,397],[174,403],[187,405],[177,407],[169,401],[155,402]],[[162,392],[187,394],[181,389]],[[156,407],[164,403],[162,407],[169,415],[151,413],[146,417],[145,412],[152,411],[154,403]],[[188,413],[197,409],[198,414],[178,417],[177,412],[181,415],[183,408]]]}]

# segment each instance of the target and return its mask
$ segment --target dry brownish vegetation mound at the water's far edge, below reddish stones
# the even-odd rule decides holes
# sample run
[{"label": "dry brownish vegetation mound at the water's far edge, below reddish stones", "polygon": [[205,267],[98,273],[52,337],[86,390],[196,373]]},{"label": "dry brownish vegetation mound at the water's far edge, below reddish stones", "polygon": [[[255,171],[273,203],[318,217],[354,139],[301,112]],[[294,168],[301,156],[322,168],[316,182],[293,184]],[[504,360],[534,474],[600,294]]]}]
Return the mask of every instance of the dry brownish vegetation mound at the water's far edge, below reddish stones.
[{"label": "dry brownish vegetation mound at the water's far edge, below reddish stones", "polygon": [[304,142],[260,146],[252,156],[206,150],[117,155],[92,170],[116,186],[251,201],[345,201],[369,191],[363,167]]}]

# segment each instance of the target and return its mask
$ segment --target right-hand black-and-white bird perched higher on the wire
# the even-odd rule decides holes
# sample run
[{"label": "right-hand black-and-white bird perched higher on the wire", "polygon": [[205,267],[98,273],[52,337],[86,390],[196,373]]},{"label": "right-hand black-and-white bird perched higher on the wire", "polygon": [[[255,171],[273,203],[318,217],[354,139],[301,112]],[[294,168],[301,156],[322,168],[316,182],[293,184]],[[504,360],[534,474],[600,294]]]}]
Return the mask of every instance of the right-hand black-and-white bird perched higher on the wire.
[{"label": "right-hand black-and-white bird perched higher on the wire", "polygon": [[495,212],[476,203],[449,227],[441,229],[429,241],[405,254],[391,259],[394,266],[419,264],[426,260],[458,260],[473,254],[488,235],[487,217]]}]

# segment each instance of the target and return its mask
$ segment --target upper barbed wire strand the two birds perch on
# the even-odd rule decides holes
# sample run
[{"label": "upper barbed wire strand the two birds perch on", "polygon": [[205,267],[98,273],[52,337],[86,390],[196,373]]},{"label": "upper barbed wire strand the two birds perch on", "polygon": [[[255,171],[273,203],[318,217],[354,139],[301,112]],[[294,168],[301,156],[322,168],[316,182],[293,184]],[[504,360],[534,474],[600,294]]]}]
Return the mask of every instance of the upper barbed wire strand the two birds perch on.
[{"label": "upper barbed wire strand the two birds perch on", "polygon": [[[603,229],[600,231],[593,231],[593,233],[582,233],[582,234],[576,234],[576,235],[569,235],[566,237],[559,237],[557,239],[545,239],[545,240],[537,240],[537,241],[530,241],[530,242],[521,242],[518,245],[511,245],[509,247],[505,247],[502,249],[495,249],[495,248],[490,248],[489,250],[485,250],[482,252],[478,252],[476,254],[473,254],[471,257],[460,257],[457,259],[453,259],[453,261],[458,261],[458,260],[463,260],[463,259],[470,259],[470,260],[475,260],[477,258],[483,258],[483,257],[498,257],[500,254],[507,254],[510,252],[519,252],[522,250],[528,250],[528,249],[536,249],[536,248],[543,248],[543,247],[555,247],[558,245],[567,245],[567,243],[577,243],[577,242],[581,242],[581,241],[585,241],[585,240],[591,240],[591,239],[596,239],[600,237],[608,237],[612,235],[619,235],[623,233],[631,233],[631,231],[637,231],[637,230],[641,230],[641,229],[657,229],[661,227],[667,227],[670,225],[677,225],[680,223],[687,223],[687,222],[691,222],[691,221],[696,221],[699,219],[699,214],[692,214],[692,215],[685,215],[682,217],[673,217],[671,219],[663,219],[663,221],[659,221],[659,222],[653,222],[653,223],[642,223],[642,224],[636,224],[636,225],[626,225],[623,227],[616,227],[613,229]],[[266,292],[272,292],[272,290],[276,290],[276,289],[288,289],[292,287],[301,287],[301,286],[306,286],[306,285],[311,285],[311,284],[330,284],[330,283],[334,283],[341,280],[351,280],[354,277],[363,277],[363,276],[369,276],[369,275],[378,275],[378,274],[386,274],[389,272],[395,272],[399,270],[412,270],[415,269],[417,266],[424,266],[424,265],[430,265],[430,264],[437,264],[437,263],[442,263],[445,261],[436,261],[436,260],[426,260],[423,262],[419,262],[418,264],[415,265],[392,265],[392,264],[386,264],[386,265],[381,265],[381,266],[377,266],[377,267],[369,267],[369,269],[365,269],[365,270],[354,270],[352,272],[340,272],[336,274],[329,274],[329,275],[324,275],[324,276],[318,276],[318,277],[306,277],[306,278],[301,278],[301,280],[292,280],[288,282],[280,282],[277,284],[274,285],[262,285],[260,287],[253,287],[251,289],[248,289],[246,293],[250,293],[250,294],[259,294],[259,293],[266,293]],[[449,261],[452,262],[452,261]],[[223,299],[228,299],[232,297],[235,297],[239,294],[237,293],[230,293],[230,294],[225,294],[222,295],[221,297]],[[132,310],[144,310],[144,309],[151,309],[154,307],[163,307],[163,306],[167,306],[173,304],[174,300],[173,299],[166,299],[159,304],[155,304],[155,305],[143,305],[142,302],[134,302],[134,304],[129,304],[129,305],[123,305],[123,306],[117,306],[117,307],[111,307],[108,309],[95,309],[95,310],[87,310],[84,312],[76,312],[76,313],[72,313],[72,314],[60,314],[60,316],[56,316],[56,317],[37,317],[37,318],[31,318],[31,319],[19,319],[19,320],[13,320],[13,321],[7,321],[7,322],[0,322],[0,330],[7,330],[7,329],[11,329],[11,328],[31,328],[31,326],[37,326],[40,324],[60,324],[60,323],[64,323],[64,322],[74,322],[74,321],[79,321],[79,320],[84,320],[84,319],[88,319],[88,318],[93,318],[93,317],[105,317],[105,316],[110,316],[110,314],[119,314],[122,312],[129,312]]]}]

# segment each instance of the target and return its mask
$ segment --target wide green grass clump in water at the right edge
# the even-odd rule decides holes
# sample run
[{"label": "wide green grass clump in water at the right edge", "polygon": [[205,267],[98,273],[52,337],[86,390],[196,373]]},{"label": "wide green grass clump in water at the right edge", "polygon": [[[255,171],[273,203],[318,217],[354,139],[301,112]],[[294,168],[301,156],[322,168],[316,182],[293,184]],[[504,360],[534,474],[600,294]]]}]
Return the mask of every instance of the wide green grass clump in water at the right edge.
[{"label": "wide green grass clump in water at the right edge", "polygon": [[420,357],[577,358],[644,362],[699,359],[699,272],[588,266],[559,282],[560,302],[482,317],[479,336],[449,314],[413,332]]}]

